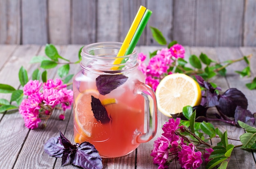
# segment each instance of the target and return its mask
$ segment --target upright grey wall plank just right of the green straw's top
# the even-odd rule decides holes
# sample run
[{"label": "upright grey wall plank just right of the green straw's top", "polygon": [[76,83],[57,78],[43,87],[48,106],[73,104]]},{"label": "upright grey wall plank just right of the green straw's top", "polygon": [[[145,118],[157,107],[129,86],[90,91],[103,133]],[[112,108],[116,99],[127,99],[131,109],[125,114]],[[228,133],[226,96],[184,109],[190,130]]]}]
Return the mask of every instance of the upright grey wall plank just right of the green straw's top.
[{"label": "upright grey wall plank just right of the green straw's top", "polygon": [[[149,26],[159,29],[167,43],[172,41],[171,31],[173,29],[173,0],[148,0],[147,8],[152,11],[152,15],[146,27],[146,45],[159,45],[153,40]],[[161,19],[160,19],[161,18]]]}]

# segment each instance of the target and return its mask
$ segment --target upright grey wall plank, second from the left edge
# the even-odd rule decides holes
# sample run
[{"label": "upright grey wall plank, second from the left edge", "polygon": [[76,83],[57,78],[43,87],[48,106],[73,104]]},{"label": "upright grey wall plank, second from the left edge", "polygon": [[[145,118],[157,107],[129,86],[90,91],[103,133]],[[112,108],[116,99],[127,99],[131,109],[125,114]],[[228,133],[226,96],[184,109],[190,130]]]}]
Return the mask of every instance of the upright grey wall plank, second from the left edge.
[{"label": "upright grey wall plank, second from the left edge", "polygon": [[47,0],[21,0],[21,44],[47,44]]}]

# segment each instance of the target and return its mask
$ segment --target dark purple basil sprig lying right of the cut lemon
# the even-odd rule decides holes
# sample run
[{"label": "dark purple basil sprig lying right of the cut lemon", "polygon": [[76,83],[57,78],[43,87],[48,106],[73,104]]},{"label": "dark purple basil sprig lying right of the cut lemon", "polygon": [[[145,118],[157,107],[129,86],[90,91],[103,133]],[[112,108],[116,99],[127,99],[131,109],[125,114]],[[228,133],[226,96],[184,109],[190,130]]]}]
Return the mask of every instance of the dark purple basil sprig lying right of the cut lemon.
[{"label": "dark purple basil sprig lying right of the cut lemon", "polygon": [[[202,96],[205,97],[200,107],[193,107],[196,110],[198,119],[202,120],[219,120],[232,125],[238,125],[238,121],[247,123],[248,125],[255,125],[256,113],[252,114],[247,110],[248,101],[245,94],[236,88],[230,88],[223,94],[217,92],[219,87],[214,88],[211,83],[204,81],[198,75],[195,75],[199,85],[205,90],[202,91]],[[206,101],[205,101],[206,100]],[[204,108],[202,108],[202,106]],[[219,112],[216,114],[217,119],[209,119],[206,117],[206,111],[209,107],[215,106]]]}]

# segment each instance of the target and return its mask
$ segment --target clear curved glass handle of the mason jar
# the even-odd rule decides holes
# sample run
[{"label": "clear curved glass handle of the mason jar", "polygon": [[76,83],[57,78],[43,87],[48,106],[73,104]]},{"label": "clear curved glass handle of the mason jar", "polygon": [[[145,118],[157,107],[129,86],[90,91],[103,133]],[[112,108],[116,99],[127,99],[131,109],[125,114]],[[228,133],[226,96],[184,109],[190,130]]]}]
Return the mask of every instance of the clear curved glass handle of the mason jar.
[{"label": "clear curved glass handle of the mason jar", "polygon": [[150,86],[140,81],[135,83],[135,93],[141,94],[146,101],[145,116],[147,117],[146,133],[137,136],[137,143],[146,143],[151,140],[157,132],[157,101],[155,92]]}]

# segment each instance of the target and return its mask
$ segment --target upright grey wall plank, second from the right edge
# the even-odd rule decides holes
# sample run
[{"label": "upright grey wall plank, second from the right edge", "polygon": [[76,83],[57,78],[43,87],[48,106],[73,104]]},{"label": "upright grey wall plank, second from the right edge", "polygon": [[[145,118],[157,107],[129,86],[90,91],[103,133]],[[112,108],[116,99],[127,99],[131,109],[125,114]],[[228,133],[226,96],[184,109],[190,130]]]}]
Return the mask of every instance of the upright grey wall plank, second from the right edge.
[{"label": "upright grey wall plank, second from the right edge", "polygon": [[243,8],[242,0],[222,0],[219,46],[242,46]]}]

